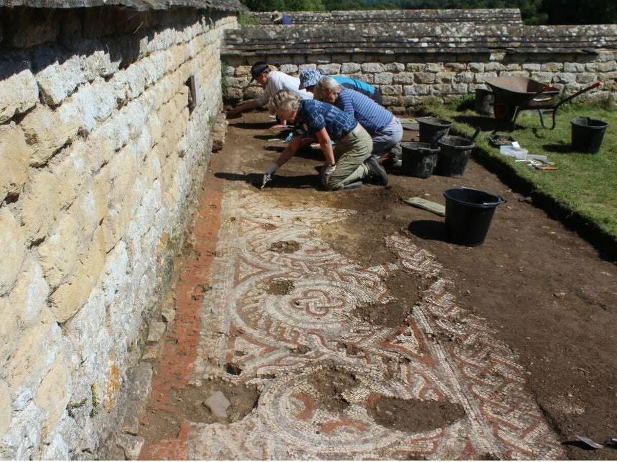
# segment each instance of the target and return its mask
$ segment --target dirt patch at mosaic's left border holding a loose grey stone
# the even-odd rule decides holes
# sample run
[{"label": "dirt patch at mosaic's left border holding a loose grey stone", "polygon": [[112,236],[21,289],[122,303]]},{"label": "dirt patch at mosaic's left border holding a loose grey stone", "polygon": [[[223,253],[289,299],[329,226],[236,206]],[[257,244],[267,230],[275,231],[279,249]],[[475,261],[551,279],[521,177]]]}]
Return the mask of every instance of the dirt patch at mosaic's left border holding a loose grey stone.
[{"label": "dirt patch at mosaic's left border holding a loose grey stone", "polygon": [[[175,438],[183,422],[232,423],[256,406],[259,391],[252,385],[205,381],[202,386],[172,389],[168,409],[148,410],[141,422],[140,436],[146,440]],[[218,415],[217,415],[218,412]]]}]

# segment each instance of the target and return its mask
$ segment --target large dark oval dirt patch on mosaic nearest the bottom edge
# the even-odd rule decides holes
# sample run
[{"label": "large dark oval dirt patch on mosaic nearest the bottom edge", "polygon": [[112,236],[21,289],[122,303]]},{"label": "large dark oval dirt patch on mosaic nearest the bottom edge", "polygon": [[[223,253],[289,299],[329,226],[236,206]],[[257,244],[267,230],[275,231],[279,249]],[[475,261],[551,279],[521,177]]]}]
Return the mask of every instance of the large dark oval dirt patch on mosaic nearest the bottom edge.
[{"label": "large dark oval dirt patch on mosaic nearest the bottom edge", "polygon": [[465,416],[458,403],[386,396],[379,397],[368,412],[379,425],[412,433],[442,428]]}]

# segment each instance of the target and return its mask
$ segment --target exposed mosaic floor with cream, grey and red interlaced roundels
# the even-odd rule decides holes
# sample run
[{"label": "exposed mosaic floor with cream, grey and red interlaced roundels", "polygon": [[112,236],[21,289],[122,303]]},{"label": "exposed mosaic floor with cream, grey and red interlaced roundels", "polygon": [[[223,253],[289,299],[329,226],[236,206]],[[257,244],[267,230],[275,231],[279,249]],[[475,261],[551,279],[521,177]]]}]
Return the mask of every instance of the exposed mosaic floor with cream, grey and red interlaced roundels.
[{"label": "exposed mosaic floor with cream, grey and red interlaced roundels", "polygon": [[[314,231],[350,212],[280,208],[254,190],[225,192],[221,211],[191,382],[224,376],[261,394],[232,424],[189,424],[188,458],[563,458],[516,357],[457,306],[431,254],[391,236],[395,259],[363,267]],[[383,279],[401,271],[430,282],[403,326],[354,317],[358,304],[391,301]],[[323,405],[315,386],[332,370],[354,378],[342,408]],[[380,396],[455,403],[464,413],[400,431],[373,418]]]}]

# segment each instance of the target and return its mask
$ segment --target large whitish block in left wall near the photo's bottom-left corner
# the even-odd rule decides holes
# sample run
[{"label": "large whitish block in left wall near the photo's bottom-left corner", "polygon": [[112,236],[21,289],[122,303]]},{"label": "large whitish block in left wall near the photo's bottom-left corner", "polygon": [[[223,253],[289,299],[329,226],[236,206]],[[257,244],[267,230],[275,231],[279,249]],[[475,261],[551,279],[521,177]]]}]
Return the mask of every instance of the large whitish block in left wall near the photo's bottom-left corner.
[{"label": "large whitish block in left wall near the photo's bottom-left corner", "polygon": [[25,408],[60,351],[62,330],[55,322],[37,323],[22,331],[19,346],[6,364],[12,408]]}]

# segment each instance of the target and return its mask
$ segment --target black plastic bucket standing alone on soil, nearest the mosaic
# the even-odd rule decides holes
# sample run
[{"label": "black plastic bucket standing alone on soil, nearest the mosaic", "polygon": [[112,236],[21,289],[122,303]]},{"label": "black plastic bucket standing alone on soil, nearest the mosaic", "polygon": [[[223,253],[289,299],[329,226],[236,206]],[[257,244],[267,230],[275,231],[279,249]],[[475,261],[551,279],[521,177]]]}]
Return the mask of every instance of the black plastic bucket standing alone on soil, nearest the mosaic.
[{"label": "black plastic bucket standing alone on soil, nearest the mosaic", "polygon": [[445,229],[450,241],[470,247],[481,245],[489,232],[495,208],[502,197],[472,188],[444,191]]}]

